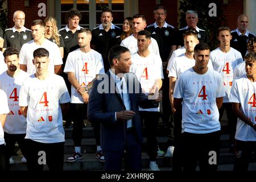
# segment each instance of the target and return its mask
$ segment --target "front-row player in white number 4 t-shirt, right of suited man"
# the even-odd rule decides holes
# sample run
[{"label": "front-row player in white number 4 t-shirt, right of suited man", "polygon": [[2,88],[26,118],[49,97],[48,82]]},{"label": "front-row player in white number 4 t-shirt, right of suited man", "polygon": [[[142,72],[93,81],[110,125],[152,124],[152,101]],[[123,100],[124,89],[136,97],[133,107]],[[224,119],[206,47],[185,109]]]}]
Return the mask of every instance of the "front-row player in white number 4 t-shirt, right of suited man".
[{"label": "front-row player in white number 4 t-shirt, right of suited man", "polygon": [[218,109],[225,96],[220,73],[207,67],[210,50],[205,43],[195,46],[195,66],[181,73],[174,89],[176,112],[182,109],[180,149],[184,171],[216,171],[209,154],[218,156],[221,126]]}]

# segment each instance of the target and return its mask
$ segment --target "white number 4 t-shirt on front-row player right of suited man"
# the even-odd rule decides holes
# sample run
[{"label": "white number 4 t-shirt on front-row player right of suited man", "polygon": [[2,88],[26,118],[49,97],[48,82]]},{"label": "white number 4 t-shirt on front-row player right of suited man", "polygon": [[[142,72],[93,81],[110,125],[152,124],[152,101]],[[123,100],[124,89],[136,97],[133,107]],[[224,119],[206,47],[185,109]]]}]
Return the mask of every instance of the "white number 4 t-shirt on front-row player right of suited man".
[{"label": "white number 4 t-shirt on front-row player right of suited man", "polygon": [[174,98],[183,98],[182,132],[205,134],[220,130],[216,98],[224,96],[221,75],[213,69],[209,68],[203,75],[193,68],[181,73]]}]

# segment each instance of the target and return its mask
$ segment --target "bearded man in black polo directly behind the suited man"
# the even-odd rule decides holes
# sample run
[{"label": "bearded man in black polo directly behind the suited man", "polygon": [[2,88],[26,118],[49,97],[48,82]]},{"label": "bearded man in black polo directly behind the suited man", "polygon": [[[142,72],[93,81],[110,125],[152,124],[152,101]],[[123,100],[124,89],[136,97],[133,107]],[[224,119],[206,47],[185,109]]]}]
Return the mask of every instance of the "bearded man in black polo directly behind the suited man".
[{"label": "bearded man in black polo directly behind the suited man", "polygon": [[104,9],[101,13],[100,26],[94,28],[92,31],[91,47],[95,51],[101,53],[105,72],[107,72],[110,68],[108,61],[108,51],[110,49],[109,42],[122,33],[121,28],[115,26],[112,21],[113,12],[109,9]]}]

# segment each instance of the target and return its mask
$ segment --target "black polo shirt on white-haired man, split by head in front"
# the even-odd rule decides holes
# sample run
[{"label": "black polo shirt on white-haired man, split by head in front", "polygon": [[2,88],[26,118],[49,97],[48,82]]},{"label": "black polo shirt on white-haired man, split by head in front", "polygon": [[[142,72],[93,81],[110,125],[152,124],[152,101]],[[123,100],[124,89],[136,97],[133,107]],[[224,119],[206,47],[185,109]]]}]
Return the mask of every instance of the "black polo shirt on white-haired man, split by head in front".
[{"label": "black polo shirt on white-haired man, split by head in front", "polygon": [[[183,34],[185,33],[185,31],[187,31],[188,29],[188,26],[187,27],[184,27],[184,28],[181,28],[179,30],[179,40],[177,41],[177,46],[181,46],[183,47],[184,46],[184,40],[183,40]],[[208,32],[199,28],[199,27],[196,27],[196,31],[198,32],[198,39],[199,39],[199,42],[204,42],[204,43],[207,43],[209,44],[209,35],[208,35]]]}]

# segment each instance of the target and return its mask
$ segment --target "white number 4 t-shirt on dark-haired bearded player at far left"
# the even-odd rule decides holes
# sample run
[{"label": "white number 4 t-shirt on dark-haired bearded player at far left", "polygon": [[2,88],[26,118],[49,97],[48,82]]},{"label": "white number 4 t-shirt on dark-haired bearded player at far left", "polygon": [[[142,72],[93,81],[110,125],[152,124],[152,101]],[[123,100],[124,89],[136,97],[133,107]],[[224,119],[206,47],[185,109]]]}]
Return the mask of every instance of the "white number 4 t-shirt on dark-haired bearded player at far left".
[{"label": "white number 4 t-shirt on dark-haired bearded player at far left", "polygon": [[28,74],[22,70],[15,77],[10,77],[6,72],[0,75],[0,88],[7,94],[10,113],[7,115],[5,127],[6,133],[25,134],[27,120],[19,110],[19,90]]}]

